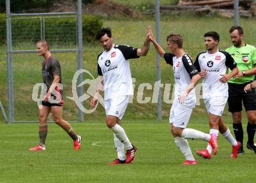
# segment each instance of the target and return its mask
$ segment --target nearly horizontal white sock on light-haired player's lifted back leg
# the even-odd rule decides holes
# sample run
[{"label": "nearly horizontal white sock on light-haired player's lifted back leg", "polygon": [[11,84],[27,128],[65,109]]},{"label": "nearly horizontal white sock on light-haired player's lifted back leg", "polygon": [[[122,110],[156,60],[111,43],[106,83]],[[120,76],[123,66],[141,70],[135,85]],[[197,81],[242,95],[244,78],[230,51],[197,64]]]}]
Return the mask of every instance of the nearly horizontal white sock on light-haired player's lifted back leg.
[{"label": "nearly horizontal white sock on light-haired player's lifted back leg", "polygon": [[184,128],[182,131],[183,138],[190,138],[190,139],[202,139],[207,142],[211,139],[209,134],[205,134],[204,132],[194,130],[192,128]]}]

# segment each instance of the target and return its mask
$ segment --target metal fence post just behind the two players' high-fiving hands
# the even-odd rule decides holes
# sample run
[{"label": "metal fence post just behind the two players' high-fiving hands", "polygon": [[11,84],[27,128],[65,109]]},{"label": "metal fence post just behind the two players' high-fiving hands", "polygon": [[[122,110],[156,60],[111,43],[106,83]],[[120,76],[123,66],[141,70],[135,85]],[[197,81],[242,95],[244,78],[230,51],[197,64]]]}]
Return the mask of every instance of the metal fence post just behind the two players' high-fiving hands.
[{"label": "metal fence post just behind the two players' high-fiving hands", "polygon": [[[157,27],[157,42],[160,44],[160,5],[159,0],[155,0],[155,24]],[[162,120],[162,95],[161,95],[161,64],[160,56],[157,53],[157,82],[159,84],[159,93],[158,93],[158,121]]]}]

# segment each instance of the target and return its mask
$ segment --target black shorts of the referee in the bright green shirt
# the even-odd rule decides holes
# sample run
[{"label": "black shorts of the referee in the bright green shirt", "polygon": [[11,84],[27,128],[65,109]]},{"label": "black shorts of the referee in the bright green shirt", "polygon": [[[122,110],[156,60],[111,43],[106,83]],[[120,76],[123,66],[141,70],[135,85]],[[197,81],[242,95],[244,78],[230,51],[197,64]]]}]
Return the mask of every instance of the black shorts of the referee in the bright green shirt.
[{"label": "black shorts of the referee in the bright green shirt", "polygon": [[244,92],[244,87],[251,83],[246,82],[244,84],[228,83],[229,85],[229,112],[240,112],[242,110],[242,101],[244,108],[247,110],[256,110],[256,93],[255,88],[251,89],[251,92]]}]

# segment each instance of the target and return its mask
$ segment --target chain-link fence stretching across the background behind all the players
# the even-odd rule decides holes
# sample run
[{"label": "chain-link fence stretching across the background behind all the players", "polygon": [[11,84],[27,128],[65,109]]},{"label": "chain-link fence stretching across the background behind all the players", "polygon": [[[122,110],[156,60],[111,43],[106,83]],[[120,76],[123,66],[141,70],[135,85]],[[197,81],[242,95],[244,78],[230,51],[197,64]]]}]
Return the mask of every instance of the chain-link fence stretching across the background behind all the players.
[{"label": "chain-link fence stretching across the background behind all the players", "polygon": [[[76,11],[75,1],[44,1],[41,5],[43,8],[23,8],[17,9],[17,4],[10,1],[11,13],[37,13],[37,12],[56,12]],[[93,1],[92,1],[93,2]],[[109,3],[111,2],[111,3]],[[156,6],[157,1],[123,1],[109,0],[97,1],[93,3],[83,2],[83,13],[94,15],[103,22],[103,27],[111,27],[115,44],[126,44],[140,48],[145,40],[147,27],[150,25],[157,36],[156,23]],[[167,1],[160,0],[160,22],[159,22],[159,42],[163,48],[166,47],[166,36],[170,33],[178,33],[184,38],[184,49],[191,55],[193,59],[198,53],[204,51],[204,33],[207,31],[217,31],[221,35],[219,44],[220,49],[226,49],[232,46],[229,37],[229,28],[235,23],[234,19],[234,1]],[[32,5],[32,3],[31,3]],[[29,5],[27,5],[29,6]],[[15,7],[15,8],[12,8]],[[244,28],[245,41],[247,44],[255,45],[255,2],[239,1],[239,25]],[[75,49],[76,43],[72,42],[76,38],[76,26],[72,18],[63,18],[63,24],[57,22],[56,18],[42,16],[41,19],[33,19],[32,27],[24,26],[23,20],[12,20],[15,25],[12,33],[14,38],[13,48],[19,49],[35,49],[35,43],[41,37],[47,38],[52,45],[51,49]],[[88,20],[88,19],[87,19]],[[56,26],[56,24],[58,26]],[[63,25],[63,26],[62,26]],[[5,29],[5,24],[0,24],[0,28]],[[44,31],[40,33],[40,26],[44,27]],[[87,32],[98,30],[98,26],[90,23],[90,28],[83,27],[83,31]],[[24,29],[28,29],[31,34],[25,34]],[[63,29],[63,30],[62,30]],[[94,34],[93,33],[93,34]],[[87,34],[87,33],[83,33]],[[63,36],[63,37],[62,37]],[[88,36],[83,37],[83,63],[84,69],[90,71],[94,78],[97,78],[97,55],[102,51],[102,47],[94,41],[87,41]],[[34,40],[33,40],[34,39]],[[16,41],[15,41],[16,40]],[[25,41],[28,40],[28,41]],[[61,41],[60,41],[61,40]],[[1,76],[1,96],[0,100],[5,109],[7,109],[7,71],[6,71],[6,44],[0,47],[0,76]],[[168,50],[166,49],[166,52]],[[76,67],[75,53],[54,53],[61,61],[63,84],[65,96],[73,96],[72,94],[72,78]],[[31,100],[31,91],[33,85],[41,82],[41,58],[36,53],[15,54],[13,55],[13,85],[14,85],[14,101],[16,120],[34,120],[37,118],[37,104]],[[157,57],[154,46],[151,45],[148,55],[140,59],[130,60],[131,74],[134,80],[134,97],[133,102],[127,108],[126,115],[130,119],[157,119],[158,101],[154,98],[157,81]],[[165,64],[163,60],[161,66],[161,90],[163,119],[168,119],[169,109],[172,103],[173,77],[172,68]],[[88,77],[88,76],[87,76]],[[84,77],[86,79],[86,76]],[[143,83],[149,83],[151,88],[144,88],[143,101],[138,102],[141,94],[138,94],[138,87]],[[87,85],[84,85],[84,93],[87,92]],[[200,89],[200,88],[199,88]],[[200,91],[197,91],[198,94]],[[163,99],[163,96],[168,96]],[[84,101],[84,107],[90,109],[89,99]],[[74,120],[77,113],[76,103],[65,98],[63,116],[67,120]],[[224,113],[226,115],[227,112]],[[201,101],[201,105],[195,107],[193,115],[204,117],[205,108]],[[95,112],[84,114],[85,120],[102,120],[105,116],[104,108],[99,105]]]}]

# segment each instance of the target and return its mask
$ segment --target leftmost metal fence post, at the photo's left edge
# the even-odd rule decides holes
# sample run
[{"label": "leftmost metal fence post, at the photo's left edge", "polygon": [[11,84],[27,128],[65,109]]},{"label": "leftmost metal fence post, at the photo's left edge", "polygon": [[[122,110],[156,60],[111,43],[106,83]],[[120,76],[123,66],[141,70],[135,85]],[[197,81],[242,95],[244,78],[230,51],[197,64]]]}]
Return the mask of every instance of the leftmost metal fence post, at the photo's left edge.
[{"label": "leftmost metal fence post, at the photo's left edge", "polygon": [[10,27],[10,0],[6,0],[6,41],[7,41],[7,78],[9,123],[14,121],[13,76],[12,76],[12,34]]}]

